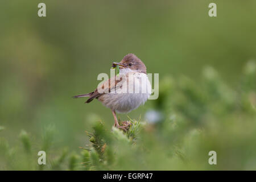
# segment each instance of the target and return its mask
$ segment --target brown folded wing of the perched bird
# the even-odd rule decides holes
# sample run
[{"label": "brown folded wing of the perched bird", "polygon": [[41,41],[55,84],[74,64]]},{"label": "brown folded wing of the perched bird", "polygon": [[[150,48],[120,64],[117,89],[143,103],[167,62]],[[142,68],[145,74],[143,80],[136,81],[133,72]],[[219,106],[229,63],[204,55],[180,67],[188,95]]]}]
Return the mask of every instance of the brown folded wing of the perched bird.
[{"label": "brown folded wing of the perched bird", "polygon": [[89,103],[94,98],[100,97],[102,94],[114,92],[115,90],[119,89],[122,85],[122,82],[125,80],[123,79],[125,76],[118,75],[109,80],[102,82],[102,84],[98,85],[97,89],[93,92],[93,94],[88,98],[86,103]]}]

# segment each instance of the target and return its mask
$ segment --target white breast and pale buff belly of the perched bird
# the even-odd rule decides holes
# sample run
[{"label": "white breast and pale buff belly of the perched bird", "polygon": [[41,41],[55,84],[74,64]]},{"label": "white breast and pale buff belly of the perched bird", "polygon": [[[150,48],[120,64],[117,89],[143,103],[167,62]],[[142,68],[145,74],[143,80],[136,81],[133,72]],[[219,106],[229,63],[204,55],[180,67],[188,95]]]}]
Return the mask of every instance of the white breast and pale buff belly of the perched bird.
[{"label": "white breast and pale buff belly of the perched bird", "polygon": [[98,97],[102,104],[118,113],[129,113],[137,109],[151,94],[151,84],[146,74],[133,72],[126,76],[129,78],[128,92],[106,93]]}]

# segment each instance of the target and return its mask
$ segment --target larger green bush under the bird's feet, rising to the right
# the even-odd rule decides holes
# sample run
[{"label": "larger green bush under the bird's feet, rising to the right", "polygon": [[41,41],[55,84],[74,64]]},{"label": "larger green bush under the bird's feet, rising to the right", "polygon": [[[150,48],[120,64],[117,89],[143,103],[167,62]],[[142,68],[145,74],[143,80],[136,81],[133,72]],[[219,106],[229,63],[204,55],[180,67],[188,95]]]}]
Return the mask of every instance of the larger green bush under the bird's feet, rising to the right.
[{"label": "larger green bush under the bird's feet, rising to the right", "polygon": [[[89,169],[256,169],[256,76],[254,63],[248,64],[237,90],[212,67],[203,70],[200,86],[187,77],[164,78],[159,88],[168,89],[152,106],[161,108],[159,122],[130,119],[127,132],[97,122],[89,134]],[[208,163],[212,150],[216,166]]]}]

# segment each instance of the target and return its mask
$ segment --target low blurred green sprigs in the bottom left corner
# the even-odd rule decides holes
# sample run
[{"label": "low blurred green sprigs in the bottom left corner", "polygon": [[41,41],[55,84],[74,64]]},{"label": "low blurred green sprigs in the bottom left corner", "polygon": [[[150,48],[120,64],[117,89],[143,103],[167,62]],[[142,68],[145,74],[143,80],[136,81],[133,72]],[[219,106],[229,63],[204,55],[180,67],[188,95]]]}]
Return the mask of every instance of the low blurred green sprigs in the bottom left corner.
[{"label": "low blurred green sprigs in the bottom left corner", "polygon": [[[0,169],[14,170],[76,170],[80,169],[82,161],[76,152],[69,154],[68,148],[56,149],[52,146],[56,132],[55,127],[49,125],[44,128],[40,143],[34,143],[34,138],[26,131],[19,134],[19,141],[15,147],[5,138],[0,138]],[[37,155],[39,151],[46,151],[46,165],[39,165]],[[57,151],[55,151],[57,150]]]}]

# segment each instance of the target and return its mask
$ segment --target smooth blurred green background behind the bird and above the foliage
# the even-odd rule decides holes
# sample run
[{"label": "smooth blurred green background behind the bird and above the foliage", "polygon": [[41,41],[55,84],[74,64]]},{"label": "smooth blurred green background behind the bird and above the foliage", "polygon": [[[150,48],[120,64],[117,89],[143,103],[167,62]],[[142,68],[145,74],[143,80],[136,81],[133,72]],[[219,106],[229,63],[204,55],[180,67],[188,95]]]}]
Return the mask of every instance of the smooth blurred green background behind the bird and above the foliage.
[{"label": "smooth blurred green background behind the bird and above the foliage", "polygon": [[[26,130],[39,146],[51,125],[53,148],[80,151],[94,121],[110,129],[109,109],[72,96],[92,92],[98,73],[109,74],[112,62],[127,53],[159,80],[187,76],[199,88],[205,66],[236,86],[242,67],[256,57],[254,0],[45,0],[47,17],[39,18],[40,2],[0,1],[0,137],[10,145],[19,144]],[[217,4],[216,18],[208,16],[210,2]],[[129,116],[143,120],[150,102]]]}]

